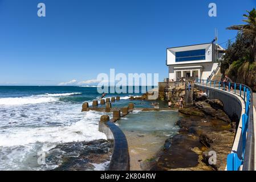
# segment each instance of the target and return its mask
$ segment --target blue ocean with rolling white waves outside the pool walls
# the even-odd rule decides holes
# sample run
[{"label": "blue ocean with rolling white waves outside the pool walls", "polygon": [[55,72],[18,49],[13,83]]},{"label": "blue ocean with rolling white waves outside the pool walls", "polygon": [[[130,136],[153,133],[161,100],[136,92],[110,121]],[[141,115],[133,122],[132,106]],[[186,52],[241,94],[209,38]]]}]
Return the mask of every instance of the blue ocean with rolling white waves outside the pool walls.
[{"label": "blue ocean with rolling white waves outside the pool walls", "polygon": [[[121,100],[113,107],[128,105],[130,96],[141,93],[106,97],[117,95]],[[68,142],[106,139],[98,131],[104,113],[81,112],[83,102],[91,105],[100,97],[95,87],[0,86],[0,170],[55,169],[54,164],[39,165],[38,152]],[[151,102],[133,102],[137,107],[151,107]]]}]

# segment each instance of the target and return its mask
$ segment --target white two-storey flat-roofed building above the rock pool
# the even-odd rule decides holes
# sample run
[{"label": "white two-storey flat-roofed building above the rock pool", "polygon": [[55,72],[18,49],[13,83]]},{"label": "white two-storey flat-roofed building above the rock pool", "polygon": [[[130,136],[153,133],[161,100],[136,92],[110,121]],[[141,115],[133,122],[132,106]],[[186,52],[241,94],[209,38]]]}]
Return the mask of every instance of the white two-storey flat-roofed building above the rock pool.
[{"label": "white two-storey flat-roofed building above the rock pool", "polygon": [[208,79],[218,67],[217,60],[224,51],[214,43],[167,48],[169,80],[178,81],[182,77]]}]

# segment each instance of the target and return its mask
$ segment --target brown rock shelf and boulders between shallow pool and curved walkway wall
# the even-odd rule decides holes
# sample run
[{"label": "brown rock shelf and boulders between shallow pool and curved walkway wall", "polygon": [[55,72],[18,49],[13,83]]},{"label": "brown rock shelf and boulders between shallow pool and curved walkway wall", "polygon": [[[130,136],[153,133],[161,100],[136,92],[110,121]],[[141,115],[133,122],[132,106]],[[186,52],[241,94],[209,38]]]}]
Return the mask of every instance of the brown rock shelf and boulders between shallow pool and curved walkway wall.
[{"label": "brown rock shelf and boulders between shallow pool and curved walkway wall", "polygon": [[[220,100],[208,100],[194,89],[194,106],[180,109],[178,134],[168,138],[147,170],[223,171],[231,151],[238,118],[229,118]],[[214,155],[216,154],[216,160]]]}]

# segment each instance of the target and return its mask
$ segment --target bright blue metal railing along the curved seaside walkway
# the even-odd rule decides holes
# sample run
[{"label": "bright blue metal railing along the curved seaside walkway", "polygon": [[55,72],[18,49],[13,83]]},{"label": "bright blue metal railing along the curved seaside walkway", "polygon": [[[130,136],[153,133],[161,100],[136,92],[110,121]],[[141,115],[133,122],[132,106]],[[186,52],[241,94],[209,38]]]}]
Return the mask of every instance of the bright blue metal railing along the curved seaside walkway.
[{"label": "bright blue metal railing along the curved seaside walkway", "polygon": [[[200,80],[196,82],[201,85],[212,87],[214,82],[214,88],[216,88],[216,81]],[[210,84],[209,84],[210,82]],[[254,125],[253,125],[253,91],[249,86],[231,82],[218,82],[217,88],[226,92],[232,92],[234,88],[234,94],[237,94],[237,87],[239,86],[239,96],[243,98],[245,102],[245,113],[242,114],[242,154],[241,158],[236,153],[230,153],[227,155],[227,171],[238,171],[243,165],[243,171],[254,170]],[[243,94],[242,94],[243,91]]]}]

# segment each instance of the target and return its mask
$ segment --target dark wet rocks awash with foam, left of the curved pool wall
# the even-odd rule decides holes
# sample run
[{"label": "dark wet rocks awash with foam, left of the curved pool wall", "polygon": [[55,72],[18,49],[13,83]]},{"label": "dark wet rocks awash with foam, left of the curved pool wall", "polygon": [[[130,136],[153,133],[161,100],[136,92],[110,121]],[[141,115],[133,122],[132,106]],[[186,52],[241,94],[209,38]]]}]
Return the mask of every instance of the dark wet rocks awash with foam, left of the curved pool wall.
[{"label": "dark wet rocks awash with foam, left of the curved pool wall", "polygon": [[46,163],[58,166],[54,171],[105,170],[112,152],[113,142],[104,139],[63,143],[48,151]]}]

